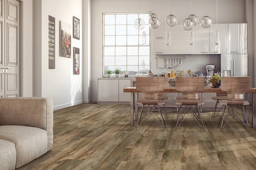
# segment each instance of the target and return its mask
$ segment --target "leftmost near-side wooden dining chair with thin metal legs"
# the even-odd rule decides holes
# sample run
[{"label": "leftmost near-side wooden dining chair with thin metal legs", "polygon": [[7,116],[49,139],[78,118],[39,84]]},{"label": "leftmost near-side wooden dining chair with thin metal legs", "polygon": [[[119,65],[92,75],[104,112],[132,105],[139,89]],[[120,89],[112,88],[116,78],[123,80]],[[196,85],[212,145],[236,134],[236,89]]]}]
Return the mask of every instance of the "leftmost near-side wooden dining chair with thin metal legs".
[{"label": "leftmost near-side wooden dining chair with thin metal legs", "polygon": [[[162,126],[162,128],[164,128],[165,122],[159,105],[163,105],[165,103],[165,100],[158,100],[158,92],[164,90],[164,77],[136,77],[136,89],[142,92],[142,100],[138,100],[137,104],[143,105],[139,120],[137,122],[136,130],[149,114],[151,114],[156,119],[156,121],[160,124],[160,126]],[[146,107],[147,112],[144,119],[141,121],[144,107]],[[156,107],[158,107],[160,118],[156,114],[156,112],[154,112],[154,109]],[[157,118],[162,121],[162,125],[157,120]]]}]

